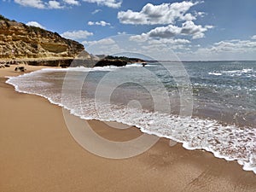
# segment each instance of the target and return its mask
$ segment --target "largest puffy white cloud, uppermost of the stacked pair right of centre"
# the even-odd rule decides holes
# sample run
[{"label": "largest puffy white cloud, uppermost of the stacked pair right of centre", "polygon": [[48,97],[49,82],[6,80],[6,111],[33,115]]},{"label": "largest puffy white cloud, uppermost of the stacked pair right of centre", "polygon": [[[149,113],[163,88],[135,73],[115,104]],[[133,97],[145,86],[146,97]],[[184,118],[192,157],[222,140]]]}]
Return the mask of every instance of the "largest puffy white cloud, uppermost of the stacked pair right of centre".
[{"label": "largest puffy white cloud, uppermost of the stacked pair right of centre", "polygon": [[155,25],[173,24],[176,20],[195,20],[196,15],[186,14],[197,2],[146,4],[140,12],[120,11],[118,19],[123,24]]}]

